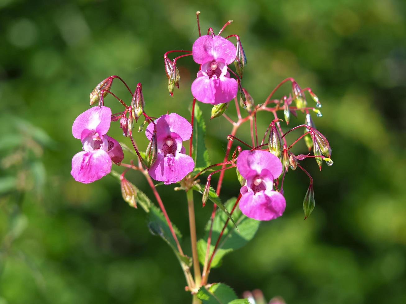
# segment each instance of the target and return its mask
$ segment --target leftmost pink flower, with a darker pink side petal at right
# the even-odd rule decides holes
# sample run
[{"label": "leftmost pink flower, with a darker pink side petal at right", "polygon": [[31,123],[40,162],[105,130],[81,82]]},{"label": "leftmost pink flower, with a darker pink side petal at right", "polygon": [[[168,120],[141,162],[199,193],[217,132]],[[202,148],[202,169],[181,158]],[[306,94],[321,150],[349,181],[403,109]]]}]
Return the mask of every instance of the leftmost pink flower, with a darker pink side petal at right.
[{"label": "leftmost pink flower, with a darker pink side petal at right", "polygon": [[82,141],[83,150],[72,158],[73,178],[84,184],[99,180],[110,173],[112,161],[118,165],[124,158],[117,140],[106,135],[110,128],[111,110],[93,107],[73,122],[73,137]]}]

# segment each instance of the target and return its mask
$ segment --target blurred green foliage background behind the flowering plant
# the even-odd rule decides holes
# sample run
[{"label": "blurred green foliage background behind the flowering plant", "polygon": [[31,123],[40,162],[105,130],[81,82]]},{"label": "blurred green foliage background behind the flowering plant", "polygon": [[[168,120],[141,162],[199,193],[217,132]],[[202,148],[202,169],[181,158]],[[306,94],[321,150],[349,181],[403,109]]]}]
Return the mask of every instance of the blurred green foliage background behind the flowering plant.
[{"label": "blurred green foliage background behind the flowering plant", "polygon": [[[286,77],[313,88],[323,104],[323,117],[313,119],[335,162],[322,172],[314,160],[302,162],[315,179],[306,221],[308,179],[289,171],[284,215],[262,223],[209,281],[290,304],[406,303],[406,2],[395,0],[0,1],[0,303],[190,302],[171,248],[149,233],[143,210],[122,200],[116,180],[73,180],[81,144],[71,124],[109,75],[132,89],[142,82],[149,115],[189,117],[198,65],[179,60],[180,90],[171,98],[162,55],[191,49],[198,10],[203,32],[234,20],[224,34],[242,39],[243,86],[256,103]],[[112,90],[130,97],[118,80]],[[289,92],[283,86],[276,97]],[[120,110],[111,97],[106,104]],[[208,150],[221,161],[231,127],[208,121],[211,107],[201,108]],[[259,114],[259,130],[271,119]],[[291,124],[303,120],[299,113]],[[112,124],[109,134],[127,142],[120,131]],[[250,140],[248,128],[238,135]],[[137,140],[145,149],[142,134]],[[130,179],[153,199],[140,174]],[[190,254],[186,195],[173,187],[158,191]],[[227,172],[222,199],[238,188]],[[211,204],[196,201],[202,232]]]}]

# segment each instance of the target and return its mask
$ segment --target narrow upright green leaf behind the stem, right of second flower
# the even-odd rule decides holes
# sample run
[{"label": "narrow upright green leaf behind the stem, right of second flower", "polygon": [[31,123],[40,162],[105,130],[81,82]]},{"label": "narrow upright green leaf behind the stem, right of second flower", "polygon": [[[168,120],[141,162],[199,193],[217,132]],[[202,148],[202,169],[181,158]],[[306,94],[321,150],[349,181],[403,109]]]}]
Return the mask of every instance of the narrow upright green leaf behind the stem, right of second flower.
[{"label": "narrow upright green leaf behind the stem, right of second flower", "polygon": [[199,105],[194,105],[194,123],[193,123],[193,153],[194,171],[199,172],[210,165],[209,152],[205,145],[206,124],[203,119],[203,112]]}]

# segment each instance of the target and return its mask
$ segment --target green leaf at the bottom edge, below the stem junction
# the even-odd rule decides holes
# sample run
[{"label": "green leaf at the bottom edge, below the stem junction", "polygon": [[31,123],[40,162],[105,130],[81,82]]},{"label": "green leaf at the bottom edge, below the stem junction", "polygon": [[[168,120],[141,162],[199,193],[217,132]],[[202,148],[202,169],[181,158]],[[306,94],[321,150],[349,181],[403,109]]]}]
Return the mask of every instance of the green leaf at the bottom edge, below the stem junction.
[{"label": "green leaf at the bottom edge, below the stem junction", "polygon": [[210,287],[200,287],[197,298],[204,304],[227,304],[237,300],[237,295],[231,287],[223,283],[214,283]]}]

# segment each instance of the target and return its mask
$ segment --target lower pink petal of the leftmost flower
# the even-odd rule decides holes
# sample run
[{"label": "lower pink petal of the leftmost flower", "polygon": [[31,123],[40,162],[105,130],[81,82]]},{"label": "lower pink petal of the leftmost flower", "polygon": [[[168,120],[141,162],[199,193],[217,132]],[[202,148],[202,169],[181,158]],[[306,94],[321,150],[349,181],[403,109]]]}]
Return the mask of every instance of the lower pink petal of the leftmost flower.
[{"label": "lower pink petal of the leftmost flower", "polygon": [[84,184],[99,180],[110,173],[111,159],[104,150],[82,151],[72,158],[73,178]]}]

